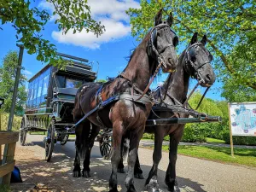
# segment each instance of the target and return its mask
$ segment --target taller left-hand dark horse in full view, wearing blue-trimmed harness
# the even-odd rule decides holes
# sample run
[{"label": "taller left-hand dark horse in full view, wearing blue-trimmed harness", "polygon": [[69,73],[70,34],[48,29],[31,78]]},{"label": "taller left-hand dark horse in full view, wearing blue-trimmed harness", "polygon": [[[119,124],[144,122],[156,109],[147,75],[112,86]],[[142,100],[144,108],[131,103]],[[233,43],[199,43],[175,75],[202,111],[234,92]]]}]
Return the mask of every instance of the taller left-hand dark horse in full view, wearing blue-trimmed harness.
[{"label": "taller left-hand dark horse in full view, wearing blue-trimmed harness", "polygon": [[[153,104],[150,98],[143,93],[147,90],[150,77],[160,67],[164,72],[172,72],[177,67],[175,46],[178,38],[170,29],[172,15],[166,21],[162,21],[161,18],[162,10],[155,17],[153,30],[148,32],[142,43],[135,49],[128,66],[118,78],[107,84],[87,83],[79,88],[73,110],[74,121],[80,122],[75,129],[76,156],[73,177],[81,176],[80,159],[82,158],[84,159],[82,176],[90,177],[90,151],[95,137],[100,127],[113,127],[112,173],[109,178],[109,191],[118,191],[117,168],[121,158],[121,141],[124,136],[131,141],[125,186],[127,191],[136,191],[133,175],[137,148]],[[95,108],[98,110],[91,113]],[[88,113],[90,115],[86,117]],[[80,119],[84,120],[80,121]]]}]

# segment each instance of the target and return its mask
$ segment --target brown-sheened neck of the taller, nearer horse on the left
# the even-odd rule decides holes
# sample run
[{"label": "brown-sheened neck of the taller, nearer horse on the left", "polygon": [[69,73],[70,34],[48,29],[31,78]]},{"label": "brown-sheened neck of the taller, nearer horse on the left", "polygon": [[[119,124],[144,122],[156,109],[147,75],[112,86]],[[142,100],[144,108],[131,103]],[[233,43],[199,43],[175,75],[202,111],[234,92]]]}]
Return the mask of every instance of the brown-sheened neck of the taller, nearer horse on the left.
[{"label": "brown-sheened neck of the taller, nearer horse on the left", "polygon": [[147,44],[149,34],[143,39],[143,42],[139,44],[137,49],[131,56],[131,61],[125,68],[125,77],[129,78],[133,84],[139,89],[144,90],[148,85],[152,73],[152,67],[154,66],[152,59],[148,58]]}]

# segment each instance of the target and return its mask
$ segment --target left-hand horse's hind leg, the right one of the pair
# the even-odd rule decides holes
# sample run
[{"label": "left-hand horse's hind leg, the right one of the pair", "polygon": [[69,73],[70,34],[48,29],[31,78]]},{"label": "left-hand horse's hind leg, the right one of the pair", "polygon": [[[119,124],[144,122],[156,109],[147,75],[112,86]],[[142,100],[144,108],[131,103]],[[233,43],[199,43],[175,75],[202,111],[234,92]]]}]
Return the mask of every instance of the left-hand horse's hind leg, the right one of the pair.
[{"label": "left-hand horse's hind leg, the right one of the pair", "polygon": [[84,169],[82,171],[83,177],[90,177],[90,152],[99,131],[100,131],[100,127],[96,125],[91,125],[90,137],[87,140],[86,149],[85,149]]}]

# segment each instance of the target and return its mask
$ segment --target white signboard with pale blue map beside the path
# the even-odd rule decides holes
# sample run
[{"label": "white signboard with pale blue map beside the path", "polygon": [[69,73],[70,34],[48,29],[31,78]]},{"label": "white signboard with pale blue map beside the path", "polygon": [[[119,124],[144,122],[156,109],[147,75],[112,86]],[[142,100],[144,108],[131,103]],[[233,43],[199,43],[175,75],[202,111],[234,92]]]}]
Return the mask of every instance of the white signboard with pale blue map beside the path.
[{"label": "white signboard with pale blue map beside the path", "polygon": [[233,136],[256,136],[256,102],[231,102],[229,110]]}]

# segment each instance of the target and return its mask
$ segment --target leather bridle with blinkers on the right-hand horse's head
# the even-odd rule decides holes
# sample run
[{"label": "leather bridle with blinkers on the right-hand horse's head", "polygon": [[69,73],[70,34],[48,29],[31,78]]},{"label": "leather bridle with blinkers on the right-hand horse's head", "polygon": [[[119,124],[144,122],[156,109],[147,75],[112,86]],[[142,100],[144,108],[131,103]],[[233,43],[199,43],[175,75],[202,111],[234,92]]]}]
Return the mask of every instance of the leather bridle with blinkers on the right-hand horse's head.
[{"label": "leather bridle with blinkers on the right-hand horse's head", "polygon": [[[196,79],[195,74],[197,74],[198,79],[201,79],[201,82],[200,82],[200,84],[201,84],[201,83],[205,83],[205,82],[204,82],[204,79],[201,78],[201,73],[198,70],[201,67],[203,67],[204,65],[206,65],[207,63],[210,64],[210,62],[209,61],[205,61],[205,62],[200,63],[199,65],[196,65],[194,61],[191,61],[191,58],[190,58],[190,55],[189,55],[190,49],[195,47],[195,46],[199,46],[199,45],[203,46],[203,44],[198,42],[198,43],[195,43],[195,44],[190,44],[189,47],[185,50],[185,54],[186,55],[185,55],[185,62],[184,62],[185,66],[184,66],[184,69],[194,79]],[[193,70],[195,71],[193,75],[191,74],[191,68],[193,68]]]}]

